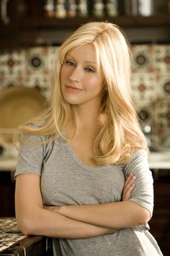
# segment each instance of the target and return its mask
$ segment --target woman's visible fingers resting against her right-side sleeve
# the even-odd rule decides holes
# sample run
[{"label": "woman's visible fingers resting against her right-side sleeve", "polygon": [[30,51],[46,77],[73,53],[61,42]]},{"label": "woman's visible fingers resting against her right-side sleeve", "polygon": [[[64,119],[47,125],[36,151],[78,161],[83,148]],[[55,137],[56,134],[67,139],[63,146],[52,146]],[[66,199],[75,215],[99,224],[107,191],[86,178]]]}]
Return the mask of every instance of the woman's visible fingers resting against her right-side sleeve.
[{"label": "woman's visible fingers resting against her right-side sleeve", "polygon": [[127,176],[124,187],[122,189],[122,201],[127,201],[129,199],[130,193],[135,187],[135,179],[136,177],[133,174]]}]

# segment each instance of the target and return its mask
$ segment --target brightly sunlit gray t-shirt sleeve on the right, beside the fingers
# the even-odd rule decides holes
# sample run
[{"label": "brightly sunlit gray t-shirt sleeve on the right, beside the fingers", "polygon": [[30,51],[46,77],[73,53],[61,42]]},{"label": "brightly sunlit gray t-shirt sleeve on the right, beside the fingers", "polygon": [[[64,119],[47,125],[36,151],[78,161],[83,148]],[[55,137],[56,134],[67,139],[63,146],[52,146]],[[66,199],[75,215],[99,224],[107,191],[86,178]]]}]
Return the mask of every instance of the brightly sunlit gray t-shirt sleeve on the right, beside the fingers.
[{"label": "brightly sunlit gray t-shirt sleeve on the right, beside the fingers", "polygon": [[124,167],[125,176],[136,176],[135,188],[130,196],[130,201],[146,208],[151,216],[153,214],[153,176],[148,166],[146,150],[139,150]]}]

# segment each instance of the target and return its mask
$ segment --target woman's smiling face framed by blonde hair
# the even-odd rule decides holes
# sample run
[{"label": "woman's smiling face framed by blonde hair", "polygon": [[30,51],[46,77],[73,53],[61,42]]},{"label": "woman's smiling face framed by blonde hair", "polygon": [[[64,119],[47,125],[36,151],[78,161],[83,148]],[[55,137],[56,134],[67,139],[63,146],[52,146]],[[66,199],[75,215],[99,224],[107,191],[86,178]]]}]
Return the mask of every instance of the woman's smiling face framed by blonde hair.
[{"label": "woman's smiling face framed by blonde hair", "polygon": [[99,107],[103,88],[103,76],[97,67],[94,46],[85,44],[68,51],[61,67],[61,91],[64,100],[77,106]]}]

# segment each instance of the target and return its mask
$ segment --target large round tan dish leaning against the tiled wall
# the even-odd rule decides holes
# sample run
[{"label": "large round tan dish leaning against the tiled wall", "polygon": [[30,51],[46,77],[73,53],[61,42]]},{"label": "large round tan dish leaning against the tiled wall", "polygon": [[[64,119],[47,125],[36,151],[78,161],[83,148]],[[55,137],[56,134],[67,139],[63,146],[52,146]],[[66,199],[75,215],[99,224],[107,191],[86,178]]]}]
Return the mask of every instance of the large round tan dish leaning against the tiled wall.
[{"label": "large round tan dish leaning against the tiled wall", "polygon": [[0,94],[0,144],[12,144],[14,130],[45,109],[46,100],[36,88],[11,87]]}]

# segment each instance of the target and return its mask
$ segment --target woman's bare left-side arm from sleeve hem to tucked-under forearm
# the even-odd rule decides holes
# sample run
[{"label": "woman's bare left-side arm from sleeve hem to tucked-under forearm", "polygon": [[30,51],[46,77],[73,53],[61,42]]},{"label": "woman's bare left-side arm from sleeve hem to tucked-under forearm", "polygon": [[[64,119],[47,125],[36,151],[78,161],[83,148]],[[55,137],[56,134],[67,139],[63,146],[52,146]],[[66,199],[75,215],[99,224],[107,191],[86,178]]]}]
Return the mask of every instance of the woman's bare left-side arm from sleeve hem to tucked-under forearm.
[{"label": "woman's bare left-side arm from sleeve hem to tucked-under forearm", "polygon": [[15,208],[18,225],[24,234],[61,238],[85,238],[110,234],[115,229],[76,221],[42,205],[40,176],[20,174],[16,180]]}]

